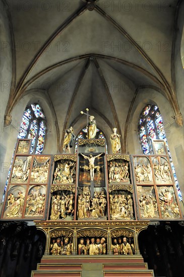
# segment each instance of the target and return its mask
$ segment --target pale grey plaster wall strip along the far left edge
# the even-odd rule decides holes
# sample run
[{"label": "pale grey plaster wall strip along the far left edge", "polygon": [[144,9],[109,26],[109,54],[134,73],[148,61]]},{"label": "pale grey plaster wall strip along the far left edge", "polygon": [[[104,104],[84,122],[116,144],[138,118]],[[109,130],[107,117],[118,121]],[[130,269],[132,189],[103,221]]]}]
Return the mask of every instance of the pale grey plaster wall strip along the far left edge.
[{"label": "pale grey plaster wall strip along the far left edge", "polygon": [[[4,127],[4,116],[6,111],[7,102],[9,99],[11,83],[12,83],[12,51],[11,51],[11,34],[9,18],[6,8],[0,5],[0,41],[1,41],[1,52],[0,52],[0,122],[1,122],[1,138],[0,138],[0,165],[1,165],[1,187],[0,187],[0,199],[5,187],[5,179],[8,175],[9,164],[7,163],[6,155],[9,152],[7,148],[7,141],[9,134],[11,134],[11,126],[9,128]],[[11,155],[13,153],[12,148],[10,150]]]}]

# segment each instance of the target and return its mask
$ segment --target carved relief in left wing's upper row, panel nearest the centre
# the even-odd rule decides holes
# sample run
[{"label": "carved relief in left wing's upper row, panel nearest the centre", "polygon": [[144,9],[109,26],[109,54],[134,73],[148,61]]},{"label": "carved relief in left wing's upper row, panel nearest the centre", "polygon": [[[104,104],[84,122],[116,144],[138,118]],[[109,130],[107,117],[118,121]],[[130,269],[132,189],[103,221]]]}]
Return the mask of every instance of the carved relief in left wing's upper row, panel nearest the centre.
[{"label": "carved relief in left wing's upper row, panel nearest the centre", "polygon": [[33,183],[46,183],[48,177],[49,163],[41,166],[34,167],[31,172],[31,182]]}]

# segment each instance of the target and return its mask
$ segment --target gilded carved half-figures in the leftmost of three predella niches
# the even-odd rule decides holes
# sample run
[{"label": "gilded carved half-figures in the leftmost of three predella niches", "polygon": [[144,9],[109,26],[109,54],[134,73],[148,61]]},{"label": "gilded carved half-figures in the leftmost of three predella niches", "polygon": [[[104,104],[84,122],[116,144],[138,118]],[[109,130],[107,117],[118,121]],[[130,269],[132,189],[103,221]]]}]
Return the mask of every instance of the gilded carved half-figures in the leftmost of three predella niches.
[{"label": "gilded carved half-figures in the leftmost of three predella niches", "polygon": [[65,237],[64,239],[57,238],[50,244],[51,255],[72,255],[72,240]]}]

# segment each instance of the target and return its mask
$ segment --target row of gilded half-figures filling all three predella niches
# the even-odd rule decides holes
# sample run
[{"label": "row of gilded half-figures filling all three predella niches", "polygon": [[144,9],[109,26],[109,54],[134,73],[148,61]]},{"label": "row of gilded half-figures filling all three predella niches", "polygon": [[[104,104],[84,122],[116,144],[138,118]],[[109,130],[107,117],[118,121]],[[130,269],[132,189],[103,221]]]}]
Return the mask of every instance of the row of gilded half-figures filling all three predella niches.
[{"label": "row of gilded half-figures filling all three predella niches", "polygon": [[[50,255],[72,255],[72,238],[52,239],[50,243]],[[133,255],[135,246],[132,238],[113,238],[110,245],[113,255]],[[107,243],[105,238],[80,238],[78,241],[78,255],[105,255]]]}]

